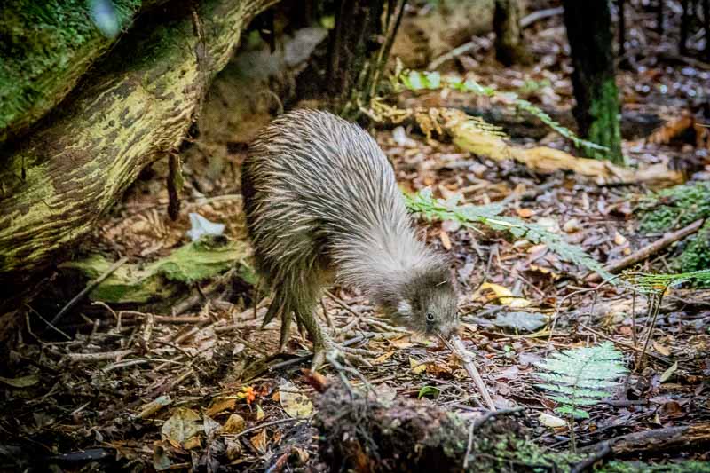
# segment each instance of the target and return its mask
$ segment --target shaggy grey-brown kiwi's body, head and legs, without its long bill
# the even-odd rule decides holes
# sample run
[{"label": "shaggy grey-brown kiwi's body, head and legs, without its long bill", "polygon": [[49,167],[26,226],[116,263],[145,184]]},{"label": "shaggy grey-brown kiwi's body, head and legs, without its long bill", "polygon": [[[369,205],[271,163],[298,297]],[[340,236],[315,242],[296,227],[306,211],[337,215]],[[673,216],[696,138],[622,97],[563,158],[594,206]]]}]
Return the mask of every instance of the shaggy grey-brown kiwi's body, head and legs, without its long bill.
[{"label": "shaggy grey-brown kiwi's body, head and legs, without its long bill", "polygon": [[416,332],[459,325],[446,257],[417,240],[390,162],[358,125],[317,110],[281,115],[249,146],[241,192],[256,269],[273,293],[264,325],[280,317],[281,350],[293,317],[311,336],[313,369],[339,348],[314,316],[333,283],[359,288]]}]

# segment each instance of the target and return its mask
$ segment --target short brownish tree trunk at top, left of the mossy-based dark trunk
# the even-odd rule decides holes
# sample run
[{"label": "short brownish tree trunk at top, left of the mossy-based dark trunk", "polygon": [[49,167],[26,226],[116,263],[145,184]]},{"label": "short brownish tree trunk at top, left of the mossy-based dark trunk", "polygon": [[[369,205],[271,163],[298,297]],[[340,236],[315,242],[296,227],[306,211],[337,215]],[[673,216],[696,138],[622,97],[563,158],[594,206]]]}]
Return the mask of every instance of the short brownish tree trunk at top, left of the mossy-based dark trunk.
[{"label": "short brownish tree trunk at top, left of the mossy-based dark trunk", "polygon": [[532,62],[533,57],[523,42],[518,0],[495,0],[493,30],[495,31],[495,59],[505,66]]}]

